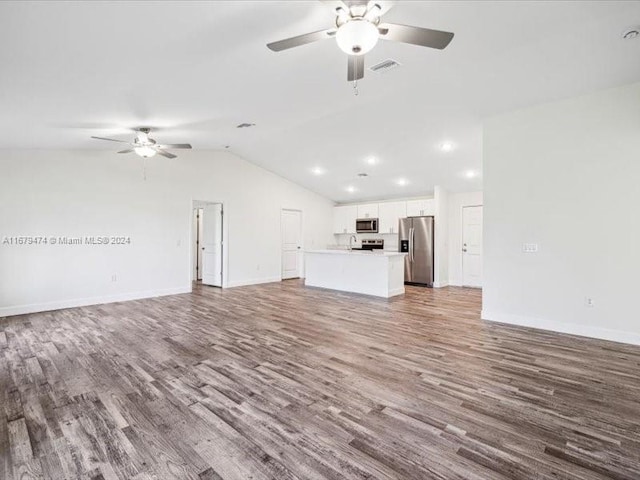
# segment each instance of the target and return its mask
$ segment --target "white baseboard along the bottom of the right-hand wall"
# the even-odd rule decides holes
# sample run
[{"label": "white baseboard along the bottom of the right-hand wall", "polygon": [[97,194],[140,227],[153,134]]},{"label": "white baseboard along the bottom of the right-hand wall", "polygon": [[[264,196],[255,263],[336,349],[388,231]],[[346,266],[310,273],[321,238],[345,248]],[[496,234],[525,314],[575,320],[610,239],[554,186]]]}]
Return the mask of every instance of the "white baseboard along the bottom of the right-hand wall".
[{"label": "white baseboard along the bottom of the right-hand wall", "polygon": [[640,334],[625,332],[622,330],[612,330],[610,328],[592,327],[589,325],[579,325],[576,323],[554,322],[543,318],[526,317],[512,315],[509,313],[489,312],[482,310],[482,319],[491,322],[508,323],[521,327],[531,327],[552,332],[569,333],[581,337],[597,338],[600,340],[610,340],[612,342],[628,343],[630,345],[640,345]]}]

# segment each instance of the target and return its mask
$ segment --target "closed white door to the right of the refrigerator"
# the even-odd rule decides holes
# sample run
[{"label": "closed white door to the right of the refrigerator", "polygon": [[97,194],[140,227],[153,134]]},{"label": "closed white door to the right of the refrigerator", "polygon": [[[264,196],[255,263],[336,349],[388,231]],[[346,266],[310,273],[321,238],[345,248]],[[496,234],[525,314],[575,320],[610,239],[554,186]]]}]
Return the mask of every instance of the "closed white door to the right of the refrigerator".
[{"label": "closed white door to the right of the refrigerator", "polygon": [[462,283],[482,286],[482,207],[462,209]]}]

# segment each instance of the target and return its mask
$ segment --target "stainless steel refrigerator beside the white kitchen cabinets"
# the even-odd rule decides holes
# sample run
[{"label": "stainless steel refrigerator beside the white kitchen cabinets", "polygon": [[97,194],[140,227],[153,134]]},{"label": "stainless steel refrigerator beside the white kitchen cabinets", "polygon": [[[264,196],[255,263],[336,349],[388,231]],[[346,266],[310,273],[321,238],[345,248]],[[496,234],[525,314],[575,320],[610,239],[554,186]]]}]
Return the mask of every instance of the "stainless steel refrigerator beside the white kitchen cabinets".
[{"label": "stainless steel refrigerator beside the white kitchen cabinets", "polygon": [[398,247],[404,257],[404,283],[433,287],[433,217],[401,218]]}]

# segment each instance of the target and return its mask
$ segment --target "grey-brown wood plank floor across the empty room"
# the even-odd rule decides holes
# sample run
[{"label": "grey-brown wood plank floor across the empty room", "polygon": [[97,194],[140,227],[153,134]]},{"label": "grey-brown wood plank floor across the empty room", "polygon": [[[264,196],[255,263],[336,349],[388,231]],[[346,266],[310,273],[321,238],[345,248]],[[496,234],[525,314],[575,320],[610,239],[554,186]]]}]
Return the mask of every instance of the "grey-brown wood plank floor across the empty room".
[{"label": "grey-brown wood plank floor across the empty room", "polygon": [[0,320],[0,478],[640,478],[640,348],[298,281]]}]

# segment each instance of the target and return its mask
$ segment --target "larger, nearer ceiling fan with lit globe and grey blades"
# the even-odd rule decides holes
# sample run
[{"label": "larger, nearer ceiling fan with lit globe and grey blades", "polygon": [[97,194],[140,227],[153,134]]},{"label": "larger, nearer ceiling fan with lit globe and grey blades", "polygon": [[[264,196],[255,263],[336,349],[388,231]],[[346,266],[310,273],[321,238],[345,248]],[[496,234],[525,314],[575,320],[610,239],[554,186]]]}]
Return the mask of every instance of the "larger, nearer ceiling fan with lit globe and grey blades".
[{"label": "larger, nearer ceiling fan with lit globe and grey blades", "polygon": [[335,27],[269,43],[267,47],[274,52],[279,52],[335,37],[338,47],[349,55],[347,80],[351,82],[364,77],[364,54],[371,51],[379,39],[442,50],[449,45],[453,38],[451,32],[395,23],[381,23],[381,17],[383,13],[386,13],[383,12],[382,4],[387,4],[389,8],[388,2],[376,0],[320,1],[335,7]]}]

